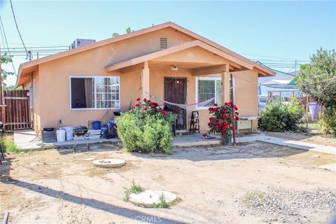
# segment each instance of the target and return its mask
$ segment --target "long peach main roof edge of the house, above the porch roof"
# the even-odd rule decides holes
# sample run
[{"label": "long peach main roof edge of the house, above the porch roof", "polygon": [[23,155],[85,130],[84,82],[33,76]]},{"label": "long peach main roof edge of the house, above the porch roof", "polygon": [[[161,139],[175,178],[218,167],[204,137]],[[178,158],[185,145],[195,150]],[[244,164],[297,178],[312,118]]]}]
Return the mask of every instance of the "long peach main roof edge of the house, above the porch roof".
[{"label": "long peach main roof edge of the house, above the porch roof", "polygon": [[[22,75],[22,71],[25,70],[25,69],[29,69],[32,66],[36,66],[38,64],[42,64],[42,63],[45,63],[45,62],[50,62],[52,60],[59,59],[59,58],[62,58],[62,57],[66,57],[66,56],[69,56],[69,55],[74,55],[74,54],[77,54],[79,52],[83,52],[85,50],[99,48],[103,45],[107,45],[107,44],[110,44],[110,43],[115,43],[115,42],[118,42],[118,41],[123,41],[127,38],[132,38],[134,36],[147,34],[149,32],[156,31],[156,30],[159,30],[159,29],[165,29],[167,27],[172,27],[173,29],[181,31],[181,32],[183,32],[183,33],[185,33],[189,36],[193,36],[197,40],[202,41],[204,43],[207,43],[208,45],[211,45],[212,47],[217,48],[218,50],[221,50],[221,51],[225,52],[226,54],[231,55],[232,57],[236,57],[237,59],[240,59],[243,62],[251,64],[253,67],[259,69],[260,71],[262,71],[264,73],[267,73],[271,76],[274,76],[274,74],[275,74],[274,71],[269,70],[269,69],[265,68],[264,66],[261,66],[260,64],[252,62],[251,60],[247,59],[246,57],[238,55],[237,53],[233,52],[232,50],[229,50],[228,48],[225,48],[222,45],[219,45],[218,43],[215,43],[214,41],[210,41],[209,39],[204,38],[203,36],[195,34],[193,31],[190,31],[190,30],[188,30],[186,28],[183,28],[179,25],[176,25],[174,22],[165,22],[165,23],[162,23],[160,25],[156,25],[156,26],[153,26],[153,27],[148,27],[148,28],[145,28],[145,29],[140,29],[138,31],[134,31],[130,34],[123,34],[123,35],[116,36],[116,37],[113,37],[113,38],[108,38],[106,40],[97,41],[96,43],[92,43],[90,45],[85,45],[85,46],[80,47],[80,48],[75,48],[75,49],[72,49],[72,50],[66,50],[64,52],[59,52],[55,55],[42,57],[41,59],[35,59],[31,62],[25,62],[23,64],[20,64],[20,68],[19,68],[19,71],[18,71],[17,84],[18,84],[18,81],[20,80],[20,76]],[[31,69],[29,69],[29,72],[30,72],[30,70]]]}]

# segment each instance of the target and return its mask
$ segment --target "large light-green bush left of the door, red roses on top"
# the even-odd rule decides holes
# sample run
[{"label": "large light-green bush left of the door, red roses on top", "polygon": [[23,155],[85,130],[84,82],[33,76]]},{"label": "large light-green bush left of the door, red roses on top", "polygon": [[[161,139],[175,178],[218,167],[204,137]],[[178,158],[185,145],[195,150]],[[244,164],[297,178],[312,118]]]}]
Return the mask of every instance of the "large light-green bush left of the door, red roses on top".
[{"label": "large light-green bush left of the door, red roses on top", "polygon": [[174,114],[160,110],[158,104],[144,99],[116,120],[118,136],[127,151],[171,153],[172,122],[175,119]]}]

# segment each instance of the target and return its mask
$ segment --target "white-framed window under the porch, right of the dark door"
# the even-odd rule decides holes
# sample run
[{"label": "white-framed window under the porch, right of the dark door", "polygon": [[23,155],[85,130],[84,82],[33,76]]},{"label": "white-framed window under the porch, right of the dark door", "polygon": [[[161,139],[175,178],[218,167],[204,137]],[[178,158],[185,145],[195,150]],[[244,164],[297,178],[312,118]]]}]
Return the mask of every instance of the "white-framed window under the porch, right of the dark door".
[{"label": "white-framed window under the porch, right of the dark door", "polygon": [[[235,92],[235,78],[232,80],[233,92]],[[221,105],[221,85],[222,80],[218,77],[196,77],[196,102],[204,102],[207,99],[214,98],[206,105],[196,106],[196,109],[209,109],[214,104]],[[230,100],[232,100],[232,94],[230,91]]]}]

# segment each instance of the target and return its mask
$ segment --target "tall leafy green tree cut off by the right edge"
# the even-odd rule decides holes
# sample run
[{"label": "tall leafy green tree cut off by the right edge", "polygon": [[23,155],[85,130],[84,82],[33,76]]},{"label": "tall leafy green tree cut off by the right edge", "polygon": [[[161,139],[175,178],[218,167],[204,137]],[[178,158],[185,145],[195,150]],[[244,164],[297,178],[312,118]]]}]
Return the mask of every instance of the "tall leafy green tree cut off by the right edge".
[{"label": "tall leafy green tree cut off by the right edge", "polygon": [[310,64],[302,64],[295,78],[297,86],[316,102],[328,108],[336,106],[336,52],[317,50]]}]

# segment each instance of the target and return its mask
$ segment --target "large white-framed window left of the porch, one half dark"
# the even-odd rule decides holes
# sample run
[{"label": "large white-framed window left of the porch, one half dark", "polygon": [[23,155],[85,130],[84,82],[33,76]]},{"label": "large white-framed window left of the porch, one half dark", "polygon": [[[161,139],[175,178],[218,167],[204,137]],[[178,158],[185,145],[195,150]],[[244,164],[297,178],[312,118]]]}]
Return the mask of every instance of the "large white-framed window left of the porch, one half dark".
[{"label": "large white-framed window left of the porch, one half dark", "polygon": [[120,77],[70,76],[70,109],[120,109]]}]

